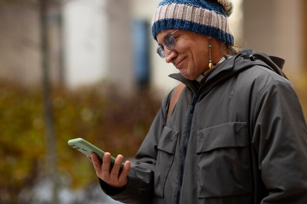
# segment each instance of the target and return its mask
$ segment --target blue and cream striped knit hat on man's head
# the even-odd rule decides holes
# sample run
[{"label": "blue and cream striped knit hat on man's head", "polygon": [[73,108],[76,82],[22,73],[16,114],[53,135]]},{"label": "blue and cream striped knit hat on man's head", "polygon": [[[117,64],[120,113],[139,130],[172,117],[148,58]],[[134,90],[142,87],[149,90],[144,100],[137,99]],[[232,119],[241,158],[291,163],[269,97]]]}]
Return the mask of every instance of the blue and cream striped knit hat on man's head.
[{"label": "blue and cream striped knit hat on man's head", "polygon": [[153,38],[166,29],[184,29],[233,45],[228,18],[231,0],[162,0],[152,21]]}]

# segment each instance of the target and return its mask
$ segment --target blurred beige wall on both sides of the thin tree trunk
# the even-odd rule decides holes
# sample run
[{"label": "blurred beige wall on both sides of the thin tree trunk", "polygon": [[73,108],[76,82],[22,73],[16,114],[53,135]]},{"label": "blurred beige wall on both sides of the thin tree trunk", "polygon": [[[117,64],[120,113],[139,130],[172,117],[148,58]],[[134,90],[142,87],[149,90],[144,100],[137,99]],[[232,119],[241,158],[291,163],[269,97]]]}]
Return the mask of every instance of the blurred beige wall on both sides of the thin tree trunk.
[{"label": "blurred beige wall on both sides of the thin tree trunk", "polygon": [[[37,3],[0,3],[0,80],[34,86],[41,83],[40,21]],[[60,82],[58,13],[48,15],[50,77]]]}]

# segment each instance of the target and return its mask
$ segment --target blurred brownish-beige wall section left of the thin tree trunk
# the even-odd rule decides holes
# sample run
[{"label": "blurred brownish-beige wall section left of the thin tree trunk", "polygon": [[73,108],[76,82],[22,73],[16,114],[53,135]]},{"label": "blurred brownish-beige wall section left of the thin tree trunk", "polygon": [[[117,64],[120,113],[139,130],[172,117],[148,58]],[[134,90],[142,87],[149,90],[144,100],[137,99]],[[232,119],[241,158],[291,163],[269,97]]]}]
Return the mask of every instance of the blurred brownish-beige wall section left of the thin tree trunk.
[{"label": "blurred brownish-beige wall section left of the thin tree trunk", "polygon": [[0,79],[37,83],[39,16],[34,7],[0,4]]}]

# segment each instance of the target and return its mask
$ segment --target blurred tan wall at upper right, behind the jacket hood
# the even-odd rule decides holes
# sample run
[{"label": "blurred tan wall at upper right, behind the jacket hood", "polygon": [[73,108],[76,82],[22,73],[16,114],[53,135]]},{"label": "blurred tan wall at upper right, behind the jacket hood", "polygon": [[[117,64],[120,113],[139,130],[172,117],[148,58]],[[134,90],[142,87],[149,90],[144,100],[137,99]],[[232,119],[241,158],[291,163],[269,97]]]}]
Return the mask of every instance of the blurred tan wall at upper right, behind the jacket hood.
[{"label": "blurred tan wall at upper right, behind the jacket hood", "polygon": [[244,0],[248,47],[286,60],[284,71],[299,74],[304,64],[303,0]]}]

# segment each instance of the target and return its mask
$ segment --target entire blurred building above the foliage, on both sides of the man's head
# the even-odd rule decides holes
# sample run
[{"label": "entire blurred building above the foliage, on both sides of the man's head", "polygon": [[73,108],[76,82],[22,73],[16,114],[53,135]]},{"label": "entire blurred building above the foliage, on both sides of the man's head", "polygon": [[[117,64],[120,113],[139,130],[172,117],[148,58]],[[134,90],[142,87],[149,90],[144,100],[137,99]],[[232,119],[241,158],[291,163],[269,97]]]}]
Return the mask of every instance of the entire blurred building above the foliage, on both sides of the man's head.
[{"label": "entire blurred building above the foliage, on both sides of the man's head", "polygon": [[[152,15],[160,0],[63,0],[48,11],[52,83],[68,87],[107,80],[123,93],[150,86],[166,93],[177,72],[155,53]],[[0,80],[41,83],[39,9],[36,0],[0,3]],[[58,2],[58,1],[57,1]],[[286,60],[300,74],[307,54],[305,0],[234,0],[230,27],[236,45]]]}]

